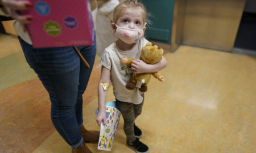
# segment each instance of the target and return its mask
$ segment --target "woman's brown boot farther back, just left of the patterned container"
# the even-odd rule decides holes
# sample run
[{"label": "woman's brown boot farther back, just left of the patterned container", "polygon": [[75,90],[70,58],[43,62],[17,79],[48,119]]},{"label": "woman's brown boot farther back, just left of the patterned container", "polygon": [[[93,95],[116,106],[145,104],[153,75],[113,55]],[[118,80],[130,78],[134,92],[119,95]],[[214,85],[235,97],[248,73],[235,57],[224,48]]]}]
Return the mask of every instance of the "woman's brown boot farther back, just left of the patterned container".
[{"label": "woman's brown boot farther back, just left of the patterned container", "polygon": [[85,143],[98,143],[100,131],[88,131],[84,128],[84,125],[82,125],[79,130],[81,131]]}]

